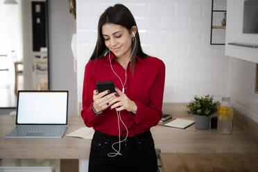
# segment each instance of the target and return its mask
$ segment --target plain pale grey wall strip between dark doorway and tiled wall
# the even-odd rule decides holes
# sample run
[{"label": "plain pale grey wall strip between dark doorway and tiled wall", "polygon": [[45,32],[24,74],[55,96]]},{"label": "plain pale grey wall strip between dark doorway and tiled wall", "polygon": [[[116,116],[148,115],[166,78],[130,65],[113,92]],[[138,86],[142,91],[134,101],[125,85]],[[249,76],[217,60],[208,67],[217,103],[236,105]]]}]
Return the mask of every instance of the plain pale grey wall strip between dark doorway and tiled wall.
[{"label": "plain pale grey wall strip between dark doorway and tiled wall", "polygon": [[77,81],[71,53],[71,36],[76,22],[69,13],[69,3],[49,1],[50,89],[69,90],[69,114],[78,114]]}]

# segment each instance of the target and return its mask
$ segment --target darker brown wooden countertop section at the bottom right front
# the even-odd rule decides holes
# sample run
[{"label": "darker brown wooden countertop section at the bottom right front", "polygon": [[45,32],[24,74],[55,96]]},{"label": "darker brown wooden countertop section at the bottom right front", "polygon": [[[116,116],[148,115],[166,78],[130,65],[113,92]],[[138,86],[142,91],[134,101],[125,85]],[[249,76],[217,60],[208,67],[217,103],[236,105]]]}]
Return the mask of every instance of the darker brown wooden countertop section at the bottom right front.
[{"label": "darker brown wooden countertop section at the bottom right front", "polygon": [[258,153],[161,153],[164,172],[258,171]]}]

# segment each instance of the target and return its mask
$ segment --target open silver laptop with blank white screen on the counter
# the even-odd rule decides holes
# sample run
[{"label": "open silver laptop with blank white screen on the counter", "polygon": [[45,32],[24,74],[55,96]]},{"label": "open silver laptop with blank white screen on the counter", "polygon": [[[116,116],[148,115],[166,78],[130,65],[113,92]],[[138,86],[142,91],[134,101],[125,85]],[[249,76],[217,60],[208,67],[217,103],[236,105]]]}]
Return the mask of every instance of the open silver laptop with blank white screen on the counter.
[{"label": "open silver laptop with blank white screen on the counter", "polygon": [[16,126],[5,138],[62,138],[67,114],[68,91],[19,91]]}]

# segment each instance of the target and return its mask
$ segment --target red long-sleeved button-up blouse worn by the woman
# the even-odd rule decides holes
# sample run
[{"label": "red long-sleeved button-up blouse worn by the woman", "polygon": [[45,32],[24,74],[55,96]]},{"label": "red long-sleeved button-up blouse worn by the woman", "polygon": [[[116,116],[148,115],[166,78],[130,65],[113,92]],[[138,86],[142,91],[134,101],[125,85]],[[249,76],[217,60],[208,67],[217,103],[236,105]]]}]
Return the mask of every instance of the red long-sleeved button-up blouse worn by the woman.
[{"label": "red long-sleeved button-up blouse worn by the woman", "polygon": [[[112,67],[122,82],[125,81],[126,69],[117,62],[113,53],[110,53]],[[108,54],[87,63],[83,83],[83,110],[81,116],[87,127],[104,132],[108,135],[119,135],[117,112],[107,108],[99,116],[92,112],[93,90],[99,81],[112,80],[114,86],[122,90],[122,85],[110,67]],[[121,111],[121,119],[128,128],[128,136],[138,135],[156,126],[162,117],[162,101],[165,81],[165,65],[162,60],[148,56],[137,57],[135,60],[134,76],[130,71],[130,63],[127,69],[127,81],[125,94],[137,105],[136,114]],[[126,128],[120,121],[121,136],[126,135]]]}]

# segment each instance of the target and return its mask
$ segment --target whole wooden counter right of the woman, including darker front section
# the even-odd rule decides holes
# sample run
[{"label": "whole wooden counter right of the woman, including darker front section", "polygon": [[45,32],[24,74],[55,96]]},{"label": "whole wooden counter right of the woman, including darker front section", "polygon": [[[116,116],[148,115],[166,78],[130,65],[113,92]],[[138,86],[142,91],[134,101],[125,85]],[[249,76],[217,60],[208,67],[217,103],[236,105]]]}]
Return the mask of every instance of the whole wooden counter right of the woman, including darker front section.
[{"label": "whole wooden counter right of the woman, including darker front section", "polygon": [[164,172],[258,171],[258,144],[236,126],[231,135],[196,130],[195,125],[184,130],[156,126],[152,131]]}]

